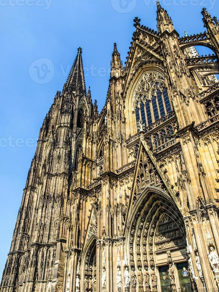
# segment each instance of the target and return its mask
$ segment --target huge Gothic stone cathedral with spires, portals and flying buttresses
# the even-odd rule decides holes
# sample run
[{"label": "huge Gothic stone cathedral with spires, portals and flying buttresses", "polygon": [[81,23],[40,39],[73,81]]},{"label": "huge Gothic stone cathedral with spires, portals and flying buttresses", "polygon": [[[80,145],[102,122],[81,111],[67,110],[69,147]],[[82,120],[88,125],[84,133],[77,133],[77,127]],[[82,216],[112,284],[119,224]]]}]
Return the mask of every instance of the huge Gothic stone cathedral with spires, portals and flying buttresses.
[{"label": "huge Gothic stone cathedral with spires, portals and flying buttresses", "polygon": [[[179,37],[134,19],[105,106],[79,48],[40,129],[1,292],[191,292],[219,288],[219,22]],[[199,55],[205,46],[212,55]]]}]

